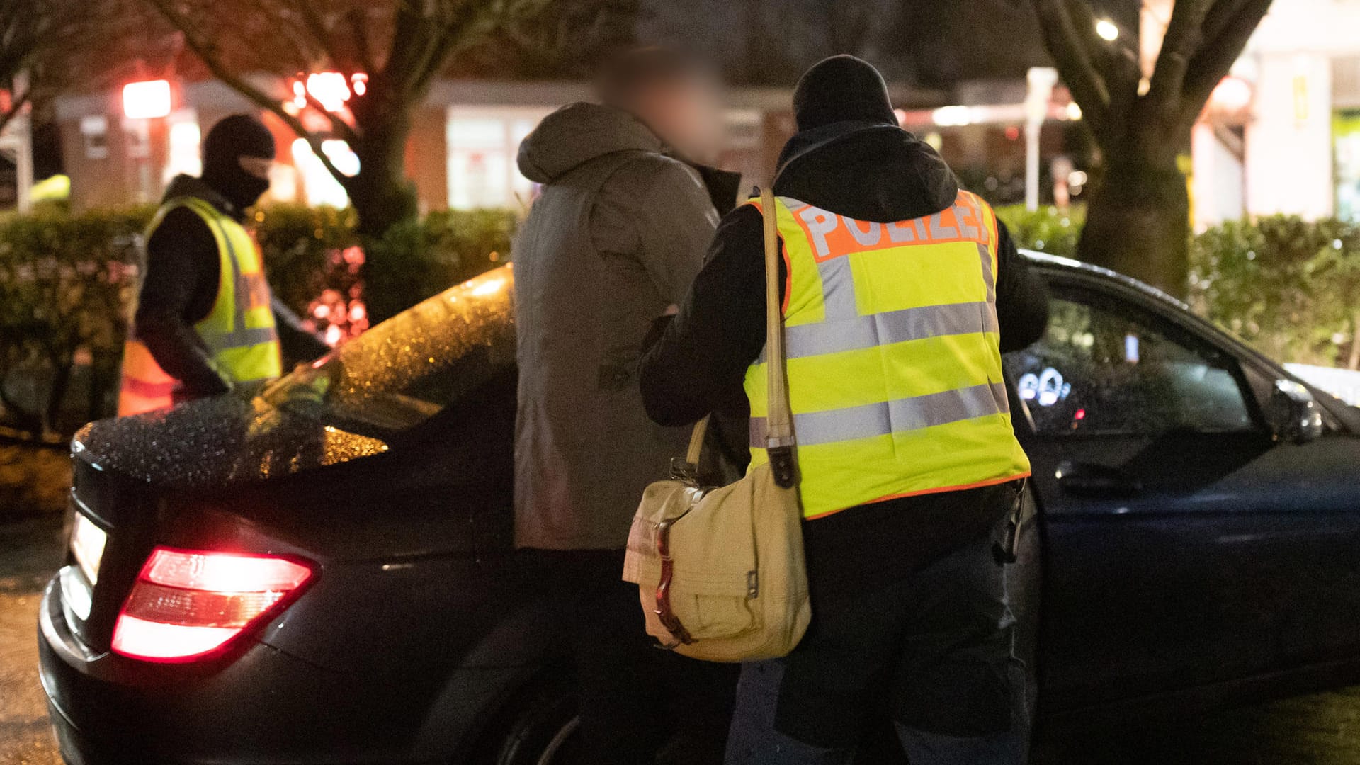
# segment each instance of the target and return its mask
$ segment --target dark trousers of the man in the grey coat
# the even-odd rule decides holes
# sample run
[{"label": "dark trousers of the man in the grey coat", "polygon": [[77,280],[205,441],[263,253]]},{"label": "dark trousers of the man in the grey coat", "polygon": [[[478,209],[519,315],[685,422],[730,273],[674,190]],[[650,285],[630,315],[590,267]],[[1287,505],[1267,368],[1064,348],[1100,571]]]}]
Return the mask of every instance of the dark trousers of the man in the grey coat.
[{"label": "dark trousers of the man in the grey coat", "polygon": [[581,687],[582,764],[717,765],[737,667],[662,651],[647,636],[638,585],[620,579],[623,550],[526,550]]}]

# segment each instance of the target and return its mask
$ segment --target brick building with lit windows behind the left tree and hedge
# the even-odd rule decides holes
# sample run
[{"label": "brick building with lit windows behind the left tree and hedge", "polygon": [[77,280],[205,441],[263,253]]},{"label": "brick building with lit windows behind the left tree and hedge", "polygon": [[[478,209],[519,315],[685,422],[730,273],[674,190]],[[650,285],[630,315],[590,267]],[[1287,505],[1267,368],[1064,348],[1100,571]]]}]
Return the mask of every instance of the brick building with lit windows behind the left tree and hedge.
[{"label": "brick building with lit windows behind the left tree and hedge", "polygon": [[[279,82],[261,79],[257,84],[265,91],[284,91]],[[894,98],[907,105],[938,101],[930,93],[892,90]],[[729,93],[728,144],[721,163],[743,173],[747,185],[770,180],[779,150],[793,135],[792,97],[789,88]],[[526,206],[533,184],[515,166],[520,142],[552,110],[590,98],[589,84],[579,82],[435,83],[415,114],[407,146],[407,173],[416,185],[422,211]],[[167,116],[154,118],[126,117],[117,90],[58,101],[61,150],[75,208],[159,200],[175,174],[201,170],[203,135],[222,117],[241,112],[261,114],[275,132],[279,162],[272,200],[347,204],[344,189],[306,140],[227,86],[180,84],[174,101]],[[358,159],[344,142],[325,140],[322,151],[341,172],[358,170]]]}]

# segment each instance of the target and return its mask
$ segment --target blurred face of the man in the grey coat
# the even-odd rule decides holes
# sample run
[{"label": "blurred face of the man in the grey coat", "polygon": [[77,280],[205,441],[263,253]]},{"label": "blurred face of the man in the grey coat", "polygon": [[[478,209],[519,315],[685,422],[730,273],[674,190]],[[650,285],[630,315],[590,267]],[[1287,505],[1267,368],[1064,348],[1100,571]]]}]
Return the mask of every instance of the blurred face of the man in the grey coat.
[{"label": "blurred face of the man in the grey coat", "polygon": [[709,78],[683,78],[649,88],[635,113],[681,157],[713,165],[725,143],[722,94]]}]

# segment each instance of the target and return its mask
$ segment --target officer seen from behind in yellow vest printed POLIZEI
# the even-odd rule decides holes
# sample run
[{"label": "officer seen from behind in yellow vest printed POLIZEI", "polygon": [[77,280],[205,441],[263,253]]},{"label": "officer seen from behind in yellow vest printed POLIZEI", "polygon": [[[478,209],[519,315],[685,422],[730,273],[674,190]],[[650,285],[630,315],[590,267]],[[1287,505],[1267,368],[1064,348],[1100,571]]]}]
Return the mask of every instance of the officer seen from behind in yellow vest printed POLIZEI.
[{"label": "officer seen from behind in yellow vest printed POLIZEI", "polygon": [[849,764],[891,719],[913,765],[1020,762],[1025,672],[997,543],[1030,461],[1001,353],[1042,335],[1047,297],[991,207],[898,127],[873,67],[817,64],[794,116],[777,208],[724,219],[641,373],[662,425],[748,407],[766,459],[774,215],[813,623],[790,656],[743,668],[726,761]]}]

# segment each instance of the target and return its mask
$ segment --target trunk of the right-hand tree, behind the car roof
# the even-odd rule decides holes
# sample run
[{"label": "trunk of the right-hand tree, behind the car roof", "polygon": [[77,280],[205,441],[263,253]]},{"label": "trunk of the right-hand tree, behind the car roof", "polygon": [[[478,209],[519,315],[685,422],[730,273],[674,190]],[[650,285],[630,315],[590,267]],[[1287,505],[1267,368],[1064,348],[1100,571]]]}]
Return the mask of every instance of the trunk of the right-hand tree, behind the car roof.
[{"label": "trunk of the right-hand tree, behind the car roof", "polygon": [[1189,245],[1190,199],[1175,158],[1107,151],[1087,203],[1081,259],[1183,297]]}]

